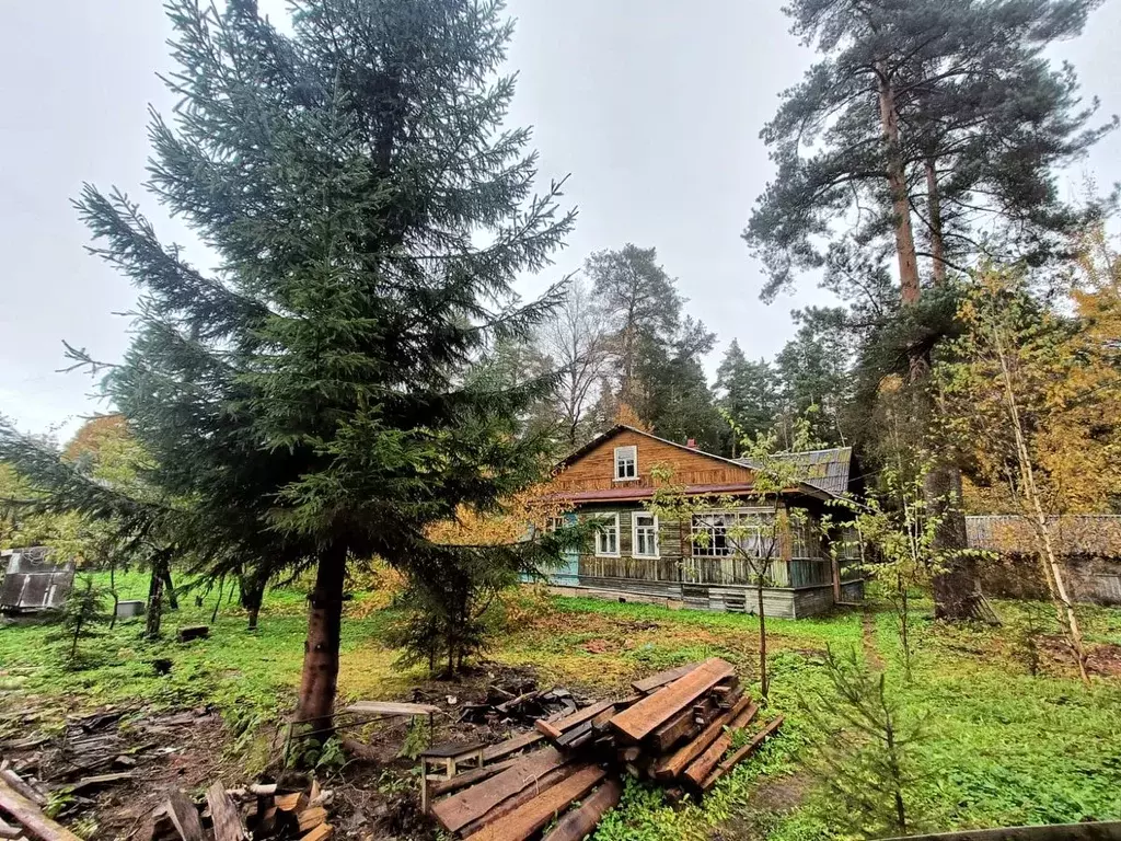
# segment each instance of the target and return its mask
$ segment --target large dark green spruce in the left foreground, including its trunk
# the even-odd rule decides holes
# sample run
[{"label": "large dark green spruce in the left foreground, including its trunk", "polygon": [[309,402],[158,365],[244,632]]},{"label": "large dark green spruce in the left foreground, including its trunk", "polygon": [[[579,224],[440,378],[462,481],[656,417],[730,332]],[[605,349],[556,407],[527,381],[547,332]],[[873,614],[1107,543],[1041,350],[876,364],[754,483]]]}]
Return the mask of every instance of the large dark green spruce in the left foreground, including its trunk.
[{"label": "large dark green spruce in the left foreground, including its trunk", "polygon": [[[532,194],[529,132],[504,129],[497,1],[172,0],[148,188],[215,255],[186,262],[138,205],[87,186],[95,252],[140,288],[105,390],[155,480],[315,571],[296,718],[332,727],[348,562],[439,574],[428,525],[525,484],[539,442],[508,434],[540,390],[465,372],[528,334],[558,290],[518,305],[573,223]],[[546,383],[547,385],[547,383]],[[216,529],[221,539],[225,528]],[[205,534],[194,535],[205,540]]]}]

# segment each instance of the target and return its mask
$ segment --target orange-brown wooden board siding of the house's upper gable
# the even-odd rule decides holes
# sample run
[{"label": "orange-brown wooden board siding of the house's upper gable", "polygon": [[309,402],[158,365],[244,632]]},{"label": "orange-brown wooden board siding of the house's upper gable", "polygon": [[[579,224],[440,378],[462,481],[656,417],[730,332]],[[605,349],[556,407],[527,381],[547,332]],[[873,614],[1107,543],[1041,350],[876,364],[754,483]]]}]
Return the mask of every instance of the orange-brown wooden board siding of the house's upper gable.
[{"label": "orange-brown wooden board siding of the house's upper gable", "polygon": [[[614,481],[617,446],[638,447],[638,479]],[[741,484],[754,479],[748,468],[623,431],[601,442],[565,468],[548,483],[546,491],[562,493],[611,488],[651,488],[654,481],[650,469],[656,464],[671,468],[674,482],[677,484]]]}]

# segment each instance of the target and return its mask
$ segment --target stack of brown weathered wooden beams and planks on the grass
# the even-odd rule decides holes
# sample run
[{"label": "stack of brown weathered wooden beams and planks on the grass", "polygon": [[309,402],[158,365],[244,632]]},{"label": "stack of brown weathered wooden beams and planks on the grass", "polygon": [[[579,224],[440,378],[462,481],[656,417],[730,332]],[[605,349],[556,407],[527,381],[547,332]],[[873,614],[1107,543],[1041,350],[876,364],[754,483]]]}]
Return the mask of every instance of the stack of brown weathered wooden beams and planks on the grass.
[{"label": "stack of brown weathered wooden beams and planks on the grass", "polygon": [[554,817],[545,841],[580,841],[619,803],[626,775],[666,786],[671,800],[702,796],[782,722],[776,718],[730,750],[734,731],[749,728],[759,708],[719,658],[632,688],[624,700],[539,719],[534,732],[488,747],[482,767],[451,779],[425,777],[432,814],[470,841],[525,841]]}]

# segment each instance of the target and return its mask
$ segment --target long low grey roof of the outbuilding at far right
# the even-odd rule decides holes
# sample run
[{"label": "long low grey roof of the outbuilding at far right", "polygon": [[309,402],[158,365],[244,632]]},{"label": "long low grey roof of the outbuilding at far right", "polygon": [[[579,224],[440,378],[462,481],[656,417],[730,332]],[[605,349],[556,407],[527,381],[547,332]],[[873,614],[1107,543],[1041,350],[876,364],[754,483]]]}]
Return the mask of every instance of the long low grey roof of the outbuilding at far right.
[{"label": "long low grey roof of the outbuilding at far right", "polygon": [[[1121,557],[1121,515],[1071,514],[1047,519],[1059,554]],[[965,539],[972,549],[1013,554],[1037,551],[1031,523],[1015,514],[966,517]]]}]

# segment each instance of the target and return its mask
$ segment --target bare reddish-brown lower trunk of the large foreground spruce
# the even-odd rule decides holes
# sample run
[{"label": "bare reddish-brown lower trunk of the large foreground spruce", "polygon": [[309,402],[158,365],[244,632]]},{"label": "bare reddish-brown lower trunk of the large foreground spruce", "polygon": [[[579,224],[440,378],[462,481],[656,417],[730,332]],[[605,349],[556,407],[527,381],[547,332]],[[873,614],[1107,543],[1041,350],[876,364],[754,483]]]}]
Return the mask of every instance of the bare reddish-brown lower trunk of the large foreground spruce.
[{"label": "bare reddish-brown lower trunk of the large foreground spruce", "polygon": [[327,739],[334,729],[345,572],[345,548],[324,552],[319,556],[315,589],[308,597],[307,641],[296,719],[316,741]]}]

